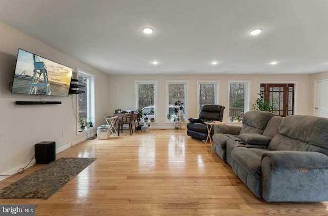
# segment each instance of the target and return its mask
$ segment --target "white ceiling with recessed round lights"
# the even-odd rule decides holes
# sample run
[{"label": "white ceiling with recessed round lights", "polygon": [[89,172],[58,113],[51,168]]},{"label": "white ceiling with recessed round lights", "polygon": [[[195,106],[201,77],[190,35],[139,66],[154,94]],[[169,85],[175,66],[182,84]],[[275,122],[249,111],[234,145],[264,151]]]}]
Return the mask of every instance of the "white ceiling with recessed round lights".
[{"label": "white ceiling with recessed round lights", "polygon": [[328,71],[327,11],[326,0],[0,0],[1,21],[109,74]]}]

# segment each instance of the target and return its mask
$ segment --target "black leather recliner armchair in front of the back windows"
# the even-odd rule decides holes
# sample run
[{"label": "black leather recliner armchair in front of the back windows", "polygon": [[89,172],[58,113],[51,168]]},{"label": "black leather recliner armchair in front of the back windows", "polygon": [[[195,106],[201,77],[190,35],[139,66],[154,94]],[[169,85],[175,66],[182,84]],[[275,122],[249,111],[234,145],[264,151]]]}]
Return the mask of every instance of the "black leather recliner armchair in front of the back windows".
[{"label": "black leather recliner armchair in front of the back windows", "polygon": [[189,118],[187,124],[187,135],[192,138],[206,140],[208,132],[204,121],[222,121],[224,106],[204,105],[199,114],[199,118]]}]

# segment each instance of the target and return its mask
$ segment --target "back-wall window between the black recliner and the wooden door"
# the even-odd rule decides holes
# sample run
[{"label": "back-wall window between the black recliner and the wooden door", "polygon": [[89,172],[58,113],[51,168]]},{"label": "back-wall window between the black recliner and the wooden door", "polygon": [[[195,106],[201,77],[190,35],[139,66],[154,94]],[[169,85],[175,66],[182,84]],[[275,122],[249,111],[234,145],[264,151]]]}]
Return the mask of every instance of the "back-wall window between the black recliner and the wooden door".
[{"label": "back-wall window between the black recliner and the wooden door", "polygon": [[249,82],[229,82],[229,120],[240,121],[249,111]]}]

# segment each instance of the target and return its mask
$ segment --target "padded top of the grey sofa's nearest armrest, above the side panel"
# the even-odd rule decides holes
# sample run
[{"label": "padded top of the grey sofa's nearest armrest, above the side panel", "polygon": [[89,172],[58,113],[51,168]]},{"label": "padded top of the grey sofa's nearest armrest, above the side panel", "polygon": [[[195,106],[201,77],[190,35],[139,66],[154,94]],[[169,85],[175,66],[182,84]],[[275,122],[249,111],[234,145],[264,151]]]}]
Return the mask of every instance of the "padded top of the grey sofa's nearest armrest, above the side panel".
[{"label": "padded top of the grey sofa's nearest armrest, above the side panel", "polygon": [[288,150],[263,152],[261,160],[269,157],[273,168],[328,169],[328,156],[318,152],[296,152]]}]

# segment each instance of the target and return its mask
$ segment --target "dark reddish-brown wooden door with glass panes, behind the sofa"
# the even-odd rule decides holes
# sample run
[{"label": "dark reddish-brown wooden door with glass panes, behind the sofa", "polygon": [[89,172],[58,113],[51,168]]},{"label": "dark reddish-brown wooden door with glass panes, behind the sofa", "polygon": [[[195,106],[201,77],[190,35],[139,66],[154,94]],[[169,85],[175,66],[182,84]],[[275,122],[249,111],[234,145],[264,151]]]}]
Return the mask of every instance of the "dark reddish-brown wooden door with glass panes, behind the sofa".
[{"label": "dark reddish-brown wooden door with glass panes, behind the sofa", "polygon": [[260,90],[273,104],[276,116],[294,115],[294,83],[262,83]]}]

